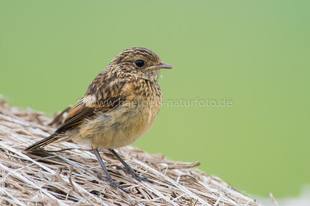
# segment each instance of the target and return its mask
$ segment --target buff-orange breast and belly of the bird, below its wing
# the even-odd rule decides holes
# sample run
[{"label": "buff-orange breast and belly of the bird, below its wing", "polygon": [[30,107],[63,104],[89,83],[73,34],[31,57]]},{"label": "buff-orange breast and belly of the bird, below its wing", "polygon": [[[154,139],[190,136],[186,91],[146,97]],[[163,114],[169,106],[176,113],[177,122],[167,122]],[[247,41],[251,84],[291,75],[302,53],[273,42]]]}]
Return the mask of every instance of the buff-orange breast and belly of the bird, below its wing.
[{"label": "buff-orange breast and belly of the bird, below its wing", "polygon": [[160,87],[152,82],[140,84],[139,89],[132,86],[136,88],[128,88],[127,99],[116,108],[81,126],[80,142],[98,149],[115,149],[135,142],[152,127],[162,104]]}]

